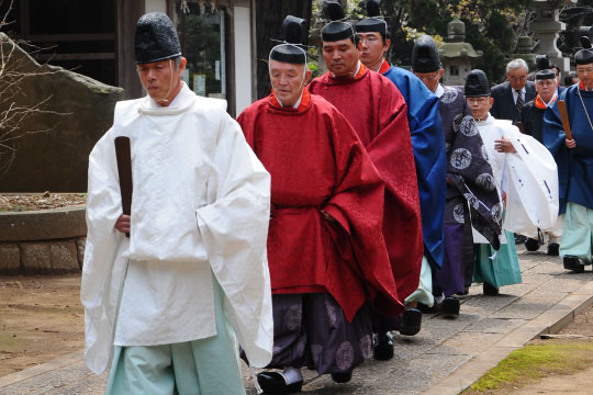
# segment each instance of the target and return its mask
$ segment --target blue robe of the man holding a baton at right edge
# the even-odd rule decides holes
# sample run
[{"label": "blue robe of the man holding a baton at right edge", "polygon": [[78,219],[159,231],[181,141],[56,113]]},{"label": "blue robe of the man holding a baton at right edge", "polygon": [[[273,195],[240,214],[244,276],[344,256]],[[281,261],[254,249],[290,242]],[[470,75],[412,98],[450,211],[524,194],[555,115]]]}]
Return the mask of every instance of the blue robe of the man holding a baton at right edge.
[{"label": "blue robe of the man holding a baton at right edge", "polygon": [[[593,120],[593,92],[581,90],[589,117]],[[558,100],[564,100],[572,137],[577,147],[564,145],[564,129],[558,111]],[[579,98],[579,84],[560,93],[556,103],[544,115],[544,145],[550,150],[558,165],[558,192],[560,214],[567,202],[593,208],[593,129]]]}]

